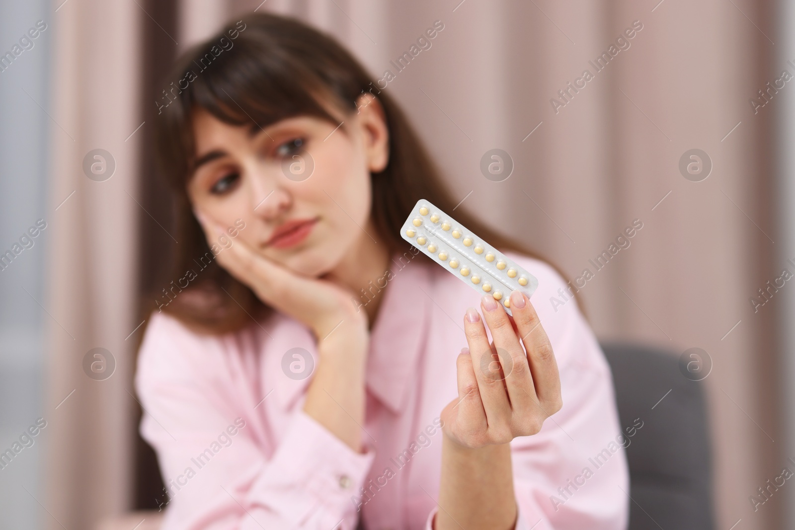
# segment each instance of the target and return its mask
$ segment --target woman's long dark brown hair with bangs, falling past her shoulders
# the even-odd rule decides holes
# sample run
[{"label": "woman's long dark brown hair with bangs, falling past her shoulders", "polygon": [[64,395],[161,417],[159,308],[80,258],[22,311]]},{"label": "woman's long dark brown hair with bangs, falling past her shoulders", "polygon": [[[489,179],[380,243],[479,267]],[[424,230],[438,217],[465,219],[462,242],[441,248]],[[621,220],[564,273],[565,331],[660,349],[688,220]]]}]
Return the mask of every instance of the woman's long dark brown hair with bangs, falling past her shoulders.
[{"label": "woman's long dark brown hair with bangs, falling past her shoulders", "polygon": [[[200,280],[179,288],[179,296],[172,282],[173,301],[156,304],[199,331],[235,331],[268,308],[211,259],[204,233],[192,214],[186,186],[195,162],[192,114],[196,108],[238,126],[264,128],[298,115],[328,120],[336,126],[338,122],[322,103],[354,112],[359,96],[370,92],[381,103],[389,130],[389,163],[382,172],[371,174],[371,215],[381,241],[390,253],[409,251],[399,233],[419,199],[429,199],[442,211],[452,212],[456,207],[436,164],[394,99],[380,91],[362,65],[332,37],[300,21],[250,14],[230,22],[182,56],[165,84],[169,90],[158,103],[155,149],[157,163],[177,195],[180,243],[174,274],[179,277],[196,269],[201,257],[209,257],[204,261],[211,265],[198,273]],[[456,219],[500,250],[542,259],[464,211],[459,210]],[[424,254],[414,259],[430,262]]]}]

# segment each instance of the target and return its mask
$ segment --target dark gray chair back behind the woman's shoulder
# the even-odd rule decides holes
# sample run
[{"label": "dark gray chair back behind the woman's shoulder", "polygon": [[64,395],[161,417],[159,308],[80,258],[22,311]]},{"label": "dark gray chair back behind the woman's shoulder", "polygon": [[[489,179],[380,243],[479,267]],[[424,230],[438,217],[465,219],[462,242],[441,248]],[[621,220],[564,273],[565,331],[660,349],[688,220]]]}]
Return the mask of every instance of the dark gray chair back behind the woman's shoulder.
[{"label": "dark gray chair back behind the woman's shoulder", "polygon": [[613,373],[622,427],[631,426],[635,418],[643,421],[626,448],[629,530],[712,530],[704,381],[684,377],[677,355],[642,346],[602,348]]}]

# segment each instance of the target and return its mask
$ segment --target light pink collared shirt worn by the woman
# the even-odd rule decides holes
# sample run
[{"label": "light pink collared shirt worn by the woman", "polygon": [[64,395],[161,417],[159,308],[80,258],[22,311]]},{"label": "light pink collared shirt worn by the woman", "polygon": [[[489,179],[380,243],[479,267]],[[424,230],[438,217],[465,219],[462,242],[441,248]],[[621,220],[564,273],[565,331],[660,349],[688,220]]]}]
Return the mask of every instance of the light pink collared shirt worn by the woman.
[{"label": "light pink collared shirt worn by the woman", "polygon": [[[153,313],[135,383],[141,433],[172,497],[161,500],[163,530],[353,530],[359,516],[367,530],[432,528],[439,414],[457,397],[463,314],[479,308],[479,295],[440,266],[405,256],[415,261],[393,261],[371,330],[364,453],[302,411],[311,377],[285,375],[298,359],[287,354],[292,348],[317,362],[301,323],[276,313],[234,334],[204,336]],[[532,302],[563,395],[540,432],[510,443],[516,528],[626,528],[629,475],[607,362],[576,302],[553,308],[550,298],[560,300],[566,286],[560,276],[542,261],[508,256],[538,279]]]}]

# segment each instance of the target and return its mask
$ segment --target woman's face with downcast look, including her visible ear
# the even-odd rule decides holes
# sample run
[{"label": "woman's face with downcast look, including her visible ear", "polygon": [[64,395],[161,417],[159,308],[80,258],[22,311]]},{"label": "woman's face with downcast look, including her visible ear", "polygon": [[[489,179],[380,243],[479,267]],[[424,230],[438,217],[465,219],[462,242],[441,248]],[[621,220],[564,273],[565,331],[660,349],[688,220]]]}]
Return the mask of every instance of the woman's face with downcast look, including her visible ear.
[{"label": "woman's face with downcast look, including her visible ear", "polygon": [[363,95],[357,106],[347,116],[328,108],[340,127],[300,116],[264,130],[196,110],[194,210],[223,229],[242,219],[238,239],[298,273],[331,271],[370,238],[370,172],[388,161],[380,103]]}]

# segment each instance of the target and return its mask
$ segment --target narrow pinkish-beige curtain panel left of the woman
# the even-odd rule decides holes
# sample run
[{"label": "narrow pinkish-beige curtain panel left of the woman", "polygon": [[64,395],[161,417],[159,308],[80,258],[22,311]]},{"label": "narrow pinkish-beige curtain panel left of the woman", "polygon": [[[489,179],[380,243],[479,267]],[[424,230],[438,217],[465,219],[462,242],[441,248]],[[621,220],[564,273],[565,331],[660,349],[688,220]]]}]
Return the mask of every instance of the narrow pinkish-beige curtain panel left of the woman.
[{"label": "narrow pinkish-beige curtain panel left of the woman", "polygon": [[[52,91],[48,113],[52,246],[48,256],[49,319],[45,462],[46,528],[92,528],[97,518],[128,508],[132,489],[130,418],[135,318],[138,109],[141,64],[136,2],[52,3]],[[57,9],[57,11],[56,11]],[[138,130],[140,133],[140,130]],[[131,135],[131,136],[130,136]],[[113,175],[91,180],[83,158],[105,149]],[[105,158],[104,171],[111,159]],[[95,179],[104,175],[97,163]],[[48,219],[49,221],[49,219]],[[83,358],[111,352],[115,370],[99,381]],[[102,359],[93,358],[95,377]],[[110,366],[110,359],[104,362]],[[107,374],[107,372],[106,372]],[[63,525],[63,526],[62,526]]]}]

